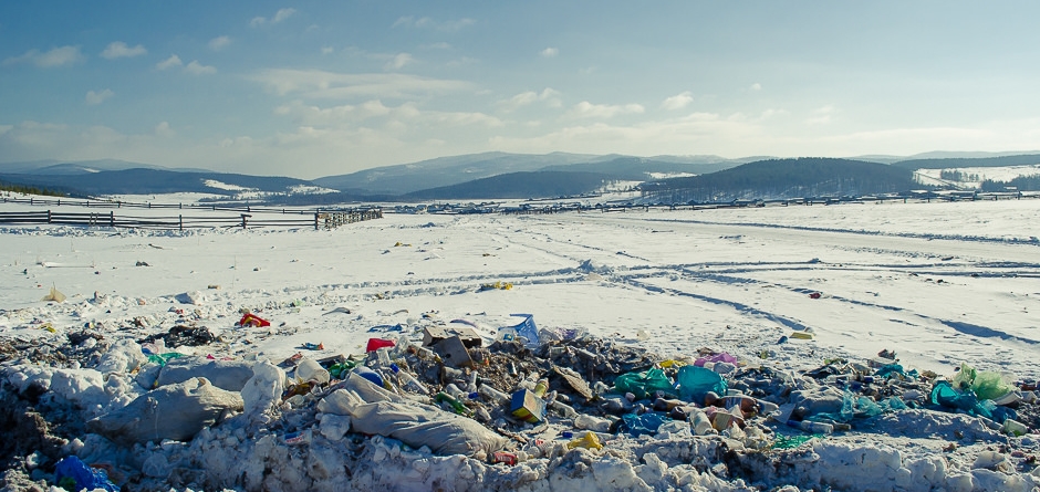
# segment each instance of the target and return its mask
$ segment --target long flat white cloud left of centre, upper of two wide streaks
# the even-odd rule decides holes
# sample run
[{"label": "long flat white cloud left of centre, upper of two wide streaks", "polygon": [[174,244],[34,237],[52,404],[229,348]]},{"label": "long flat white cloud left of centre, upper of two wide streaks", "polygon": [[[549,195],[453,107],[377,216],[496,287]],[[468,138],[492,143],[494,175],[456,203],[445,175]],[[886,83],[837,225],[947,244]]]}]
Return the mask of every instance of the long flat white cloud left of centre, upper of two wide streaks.
[{"label": "long flat white cloud left of centre, upper of two wide streaks", "polygon": [[314,98],[403,98],[472,90],[465,81],[398,73],[335,73],[320,70],[264,70],[251,78],[278,95]]}]

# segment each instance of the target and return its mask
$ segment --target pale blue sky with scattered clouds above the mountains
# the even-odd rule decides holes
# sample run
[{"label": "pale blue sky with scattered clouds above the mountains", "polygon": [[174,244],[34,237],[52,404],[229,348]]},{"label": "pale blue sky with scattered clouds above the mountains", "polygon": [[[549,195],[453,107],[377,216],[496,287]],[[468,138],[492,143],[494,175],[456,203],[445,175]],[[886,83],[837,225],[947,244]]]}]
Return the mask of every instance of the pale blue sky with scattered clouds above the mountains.
[{"label": "pale blue sky with scattered clouds above the mountains", "polygon": [[1040,3],[0,2],[0,163],[1040,147]]}]

